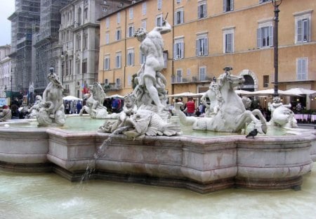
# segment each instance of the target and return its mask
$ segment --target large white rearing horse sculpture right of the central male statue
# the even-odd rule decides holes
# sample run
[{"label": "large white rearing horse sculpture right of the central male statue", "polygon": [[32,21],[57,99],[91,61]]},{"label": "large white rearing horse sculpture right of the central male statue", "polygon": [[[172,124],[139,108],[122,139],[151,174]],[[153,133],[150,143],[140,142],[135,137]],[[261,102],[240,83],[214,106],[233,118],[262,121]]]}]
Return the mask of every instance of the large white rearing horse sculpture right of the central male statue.
[{"label": "large white rearing horse sculpture right of the central male statue", "polygon": [[[180,123],[192,125],[193,130],[211,130],[215,132],[240,132],[246,123],[254,122],[259,132],[266,133],[267,122],[261,111],[247,111],[242,99],[235,93],[234,87],[244,83],[244,77],[225,73],[218,77],[218,112],[209,118],[187,117],[180,111],[182,103],[176,103],[174,111],[179,115]],[[256,118],[258,116],[259,119]]]}]

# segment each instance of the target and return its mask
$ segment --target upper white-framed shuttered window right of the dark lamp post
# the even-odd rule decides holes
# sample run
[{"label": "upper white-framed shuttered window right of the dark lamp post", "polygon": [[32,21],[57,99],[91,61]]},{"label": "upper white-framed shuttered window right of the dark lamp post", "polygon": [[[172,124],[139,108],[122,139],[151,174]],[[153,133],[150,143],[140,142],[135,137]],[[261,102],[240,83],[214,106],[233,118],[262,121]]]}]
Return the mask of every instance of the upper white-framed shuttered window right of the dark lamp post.
[{"label": "upper white-framed shuttered window right of the dark lamp post", "polygon": [[295,43],[310,42],[310,20],[312,10],[295,13]]}]

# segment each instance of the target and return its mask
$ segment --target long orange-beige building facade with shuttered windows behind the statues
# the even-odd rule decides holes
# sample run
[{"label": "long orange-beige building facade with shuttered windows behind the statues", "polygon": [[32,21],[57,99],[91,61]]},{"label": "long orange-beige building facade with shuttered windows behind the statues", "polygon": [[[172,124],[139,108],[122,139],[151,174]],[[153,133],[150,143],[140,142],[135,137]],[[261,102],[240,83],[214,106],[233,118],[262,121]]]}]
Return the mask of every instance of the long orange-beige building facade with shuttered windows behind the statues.
[{"label": "long orange-beige building facade with shuttered windows behind the statues", "polygon": [[[316,2],[283,0],[279,6],[279,89],[316,89]],[[163,36],[169,94],[204,92],[225,66],[244,75],[240,89],[274,87],[274,7],[265,0],[138,1],[100,19],[98,81],[110,94],[126,94],[142,63],[136,38],[168,14]],[[296,99],[296,98],[295,98]],[[293,99],[287,98],[287,101]],[[306,99],[308,108],[315,100]]]}]

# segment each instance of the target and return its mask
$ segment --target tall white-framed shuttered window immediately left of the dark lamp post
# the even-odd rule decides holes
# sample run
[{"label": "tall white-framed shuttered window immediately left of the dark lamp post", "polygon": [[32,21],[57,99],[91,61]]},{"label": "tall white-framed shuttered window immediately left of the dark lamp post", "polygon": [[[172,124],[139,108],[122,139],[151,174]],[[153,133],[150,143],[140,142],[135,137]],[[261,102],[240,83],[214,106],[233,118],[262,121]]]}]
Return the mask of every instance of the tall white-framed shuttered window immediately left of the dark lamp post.
[{"label": "tall white-framed shuttered window immediately left of the dark lamp post", "polygon": [[273,46],[272,20],[259,24],[257,29],[257,46],[258,48]]}]

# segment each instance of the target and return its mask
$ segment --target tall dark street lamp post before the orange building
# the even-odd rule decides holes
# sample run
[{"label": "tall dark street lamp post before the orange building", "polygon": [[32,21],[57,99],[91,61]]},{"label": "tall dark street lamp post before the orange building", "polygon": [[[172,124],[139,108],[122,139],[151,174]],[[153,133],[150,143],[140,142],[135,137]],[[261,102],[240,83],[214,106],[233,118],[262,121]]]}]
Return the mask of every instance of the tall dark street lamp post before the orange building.
[{"label": "tall dark street lamp post before the orange building", "polygon": [[275,66],[275,92],[273,94],[273,96],[279,96],[279,94],[277,93],[278,89],[279,89],[279,82],[278,82],[278,74],[279,74],[279,54],[278,54],[278,46],[279,46],[279,42],[278,42],[278,24],[279,24],[279,5],[282,3],[282,0],[272,0],[272,5],[275,8],[275,25],[273,27],[273,47],[274,47],[274,66]]}]

